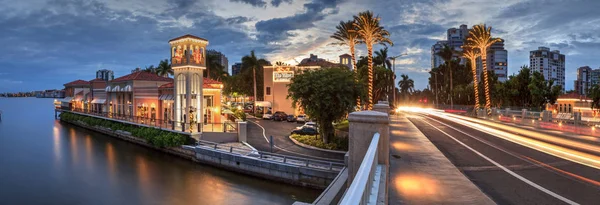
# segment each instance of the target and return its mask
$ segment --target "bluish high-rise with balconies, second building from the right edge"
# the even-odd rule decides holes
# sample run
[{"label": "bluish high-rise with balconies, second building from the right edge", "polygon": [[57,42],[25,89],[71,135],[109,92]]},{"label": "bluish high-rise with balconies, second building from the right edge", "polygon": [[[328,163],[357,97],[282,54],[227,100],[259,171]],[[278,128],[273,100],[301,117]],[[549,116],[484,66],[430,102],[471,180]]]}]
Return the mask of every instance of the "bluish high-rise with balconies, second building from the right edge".
[{"label": "bluish high-rise with balconies, second building from the right edge", "polygon": [[530,51],[529,68],[531,72],[542,73],[546,80],[554,80],[554,85],[560,85],[565,90],[565,55],[560,51],[550,51],[547,47]]}]

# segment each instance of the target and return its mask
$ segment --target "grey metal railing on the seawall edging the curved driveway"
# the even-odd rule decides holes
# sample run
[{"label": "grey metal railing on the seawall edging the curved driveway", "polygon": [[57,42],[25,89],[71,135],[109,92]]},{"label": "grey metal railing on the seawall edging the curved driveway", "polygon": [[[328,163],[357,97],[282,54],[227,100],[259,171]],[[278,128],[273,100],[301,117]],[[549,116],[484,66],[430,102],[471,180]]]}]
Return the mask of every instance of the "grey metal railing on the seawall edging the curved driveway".
[{"label": "grey metal railing on the seawall edging the curved driveway", "polygon": [[232,154],[256,157],[258,159],[263,159],[263,160],[268,160],[268,161],[273,161],[273,162],[278,162],[278,163],[284,163],[284,164],[290,164],[290,165],[295,165],[295,166],[309,167],[309,168],[314,168],[314,169],[340,171],[345,167],[343,162],[316,160],[316,159],[309,159],[309,158],[303,158],[303,157],[295,157],[295,156],[288,156],[288,155],[275,154],[275,153],[269,153],[269,152],[262,152],[262,151],[252,150],[249,148],[233,147],[233,146],[229,146],[229,145],[223,145],[223,144],[202,141],[202,140],[198,141],[198,146],[201,146],[204,148],[210,148],[213,150],[219,150],[221,152],[229,152]]}]

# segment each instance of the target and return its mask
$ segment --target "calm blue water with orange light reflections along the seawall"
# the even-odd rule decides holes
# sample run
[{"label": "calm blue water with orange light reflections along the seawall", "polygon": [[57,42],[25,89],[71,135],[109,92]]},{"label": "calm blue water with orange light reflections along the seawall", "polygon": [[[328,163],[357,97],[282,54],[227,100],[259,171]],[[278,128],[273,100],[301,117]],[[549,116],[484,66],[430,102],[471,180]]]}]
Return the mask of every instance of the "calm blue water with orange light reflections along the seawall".
[{"label": "calm blue water with orange light reflections along the seawall", "polygon": [[0,98],[0,204],[262,205],[319,194],[61,123],[52,101]]}]

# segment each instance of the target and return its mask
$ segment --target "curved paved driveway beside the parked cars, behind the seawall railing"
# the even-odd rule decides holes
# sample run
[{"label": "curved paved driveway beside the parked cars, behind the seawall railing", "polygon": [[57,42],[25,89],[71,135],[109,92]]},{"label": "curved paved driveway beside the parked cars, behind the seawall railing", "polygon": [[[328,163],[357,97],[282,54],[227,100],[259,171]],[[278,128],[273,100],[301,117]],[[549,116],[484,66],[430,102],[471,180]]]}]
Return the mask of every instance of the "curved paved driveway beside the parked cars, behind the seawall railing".
[{"label": "curved paved driveway beside the parked cars, behind the seawall railing", "polygon": [[302,125],[300,123],[262,120],[254,117],[248,117],[247,120],[247,143],[257,150],[270,152],[269,138],[273,136],[273,153],[336,162],[344,160],[344,154],[307,149],[294,144],[288,136],[294,128]]}]

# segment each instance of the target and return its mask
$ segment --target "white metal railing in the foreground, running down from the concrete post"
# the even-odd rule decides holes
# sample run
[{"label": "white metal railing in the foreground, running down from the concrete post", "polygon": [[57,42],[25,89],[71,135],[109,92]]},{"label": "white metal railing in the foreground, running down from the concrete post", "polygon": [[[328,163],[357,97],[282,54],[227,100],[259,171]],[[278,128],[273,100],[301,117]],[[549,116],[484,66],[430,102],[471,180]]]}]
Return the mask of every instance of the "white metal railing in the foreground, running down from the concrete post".
[{"label": "white metal railing in the foreground, running down from the concrete post", "polygon": [[[376,201],[377,193],[373,192],[373,180],[376,178],[377,171],[377,145],[379,144],[379,133],[373,135],[373,140],[369,144],[369,149],[365,153],[365,157],[360,163],[360,168],[356,172],[350,187],[344,194],[340,204],[342,205],[358,205],[372,204]],[[375,184],[375,186],[379,186]]]}]

